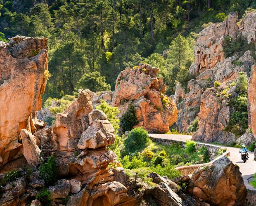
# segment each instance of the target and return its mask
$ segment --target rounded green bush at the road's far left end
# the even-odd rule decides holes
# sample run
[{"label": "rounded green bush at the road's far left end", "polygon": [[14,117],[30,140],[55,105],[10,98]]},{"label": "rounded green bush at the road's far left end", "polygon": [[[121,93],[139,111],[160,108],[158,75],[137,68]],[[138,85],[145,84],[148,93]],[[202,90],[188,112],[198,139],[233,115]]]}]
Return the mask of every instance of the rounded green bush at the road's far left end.
[{"label": "rounded green bush at the road's far left end", "polygon": [[128,137],[124,140],[126,153],[133,153],[144,149],[149,144],[148,132],[142,127],[136,127],[128,133]]}]

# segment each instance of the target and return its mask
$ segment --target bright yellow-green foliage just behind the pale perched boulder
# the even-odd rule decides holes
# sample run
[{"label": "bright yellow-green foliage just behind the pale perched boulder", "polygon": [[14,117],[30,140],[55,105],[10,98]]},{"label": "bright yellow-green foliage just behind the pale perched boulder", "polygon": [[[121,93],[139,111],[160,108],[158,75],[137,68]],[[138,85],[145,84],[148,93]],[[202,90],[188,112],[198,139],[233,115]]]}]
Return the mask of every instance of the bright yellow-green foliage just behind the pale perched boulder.
[{"label": "bright yellow-green foliage just behind the pale perched boulder", "polygon": [[118,108],[112,107],[106,101],[101,100],[100,105],[95,105],[95,109],[102,110],[106,114],[107,119],[115,129],[115,134],[117,134],[119,130],[119,118],[117,118],[117,115],[119,113]]}]

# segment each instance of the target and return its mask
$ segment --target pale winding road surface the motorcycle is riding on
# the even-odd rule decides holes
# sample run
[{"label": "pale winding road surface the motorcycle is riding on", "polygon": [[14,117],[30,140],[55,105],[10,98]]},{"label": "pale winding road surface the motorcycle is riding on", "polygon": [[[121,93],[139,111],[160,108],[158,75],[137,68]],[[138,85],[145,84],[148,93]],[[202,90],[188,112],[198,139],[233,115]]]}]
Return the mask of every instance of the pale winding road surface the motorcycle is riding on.
[{"label": "pale winding road surface the motorcycle is riding on", "polygon": [[[180,134],[149,134],[150,137],[152,138],[160,138],[160,139],[171,139],[171,140],[176,140],[176,141],[181,141],[185,142],[186,140],[191,140],[192,136],[191,135],[180,135]],[[209,143],[201,143],[197,142],[200,144],[204,145],[213,145]],[[228,151],[230,151],[230,156],[228,157],[233,164],[237,164],[239,166],[239,170],[242,173],[242,177],[244,178],[244,185],[246,186],[247,189],[250,190],[256,190],[256,188],[252,187],[248,183],[248,178],[254,175],[256,173],[256,161],[254,161],[254,153],[253,152],[248,152],[249,153],[249,159],[247,160],[246,163],[244,163],[241,160],[240,154],[239,154],[239,148],[235,147],[227,147],[227,146],[222,146],[222,145],[216,145],[219,147],[227,148]],[[252,178],[250,178],[251,180]]]}]

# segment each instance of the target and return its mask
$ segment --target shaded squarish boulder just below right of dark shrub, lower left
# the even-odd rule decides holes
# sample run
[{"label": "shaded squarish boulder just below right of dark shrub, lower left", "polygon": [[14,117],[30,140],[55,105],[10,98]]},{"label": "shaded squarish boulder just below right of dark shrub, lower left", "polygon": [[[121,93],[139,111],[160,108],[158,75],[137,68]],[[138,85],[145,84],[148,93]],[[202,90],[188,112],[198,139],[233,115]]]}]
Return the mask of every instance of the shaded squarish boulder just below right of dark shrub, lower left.
[{"label": "shaded squarish boulder just below right of dark shrub, lower left", "polygon": [[57,180],[55,186],[47,187],[51,194],[51,199],[65,198],[70,192],[69,180]]}]

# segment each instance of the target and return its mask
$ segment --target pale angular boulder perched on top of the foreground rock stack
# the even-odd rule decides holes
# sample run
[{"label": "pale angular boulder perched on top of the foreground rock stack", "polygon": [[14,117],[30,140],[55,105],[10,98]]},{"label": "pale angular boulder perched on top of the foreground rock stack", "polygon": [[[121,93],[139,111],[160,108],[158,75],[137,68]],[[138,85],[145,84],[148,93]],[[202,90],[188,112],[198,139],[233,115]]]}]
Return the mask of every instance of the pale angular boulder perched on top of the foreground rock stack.
[{"label": "pale angular boulder perched on top of the foreground rock stack", "polygon": [[114,143],[114,128],[108,120],[96,119],[78,141],[79,149],[98,148]]}]

